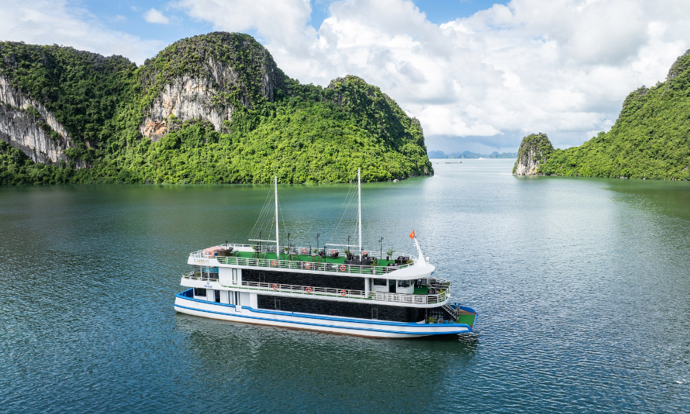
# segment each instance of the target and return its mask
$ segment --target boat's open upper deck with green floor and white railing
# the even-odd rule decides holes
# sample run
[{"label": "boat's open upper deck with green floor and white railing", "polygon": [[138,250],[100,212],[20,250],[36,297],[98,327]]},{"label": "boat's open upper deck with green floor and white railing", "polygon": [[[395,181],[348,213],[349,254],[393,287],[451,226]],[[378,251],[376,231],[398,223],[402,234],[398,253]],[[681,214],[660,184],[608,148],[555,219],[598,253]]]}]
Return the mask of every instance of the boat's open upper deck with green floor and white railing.
[{"label": "boat's open upper deck with green floor and white railing", "polygon": [[[230,248],[232,248],[232,252],[226,253],[225,250]],[[326,257],[320,257],[316,253],[311,253],[310,248],[297,247],[290,248],[286,253],[281,253],[278,258],[275,253],[275,246],[223,244],[190,253],[188,264],[262,268],[275,271],[290,270],[305,273],[327,272],[355,277],[386,275],[387,279],[417,279],[431,275],[434,270],[433,265],[424,261],[417,262],[417,258],[410,255],[405,255],[409,257],[406,263],[397,260],[377,259],[370,265],[364,265],[352,264],[351,261],[346,260],[346,252],[340,248],[328,248],[326,253],[328,253]]]}]

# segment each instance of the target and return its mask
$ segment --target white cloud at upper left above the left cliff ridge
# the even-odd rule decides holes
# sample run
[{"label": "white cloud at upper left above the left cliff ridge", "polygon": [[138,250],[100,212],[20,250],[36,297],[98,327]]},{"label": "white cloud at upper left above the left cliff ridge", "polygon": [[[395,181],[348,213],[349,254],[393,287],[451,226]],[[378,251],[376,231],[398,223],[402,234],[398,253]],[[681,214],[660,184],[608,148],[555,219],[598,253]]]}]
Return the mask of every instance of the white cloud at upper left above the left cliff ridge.
[{"label": "white cloud at upper left above the left cliff ridge", "polygon": [[83,8],[66,1],[10,0],[0,13],[0,39],[61,44],[101,55],[122,55],[144,63],[166,43],[109,30]]}]

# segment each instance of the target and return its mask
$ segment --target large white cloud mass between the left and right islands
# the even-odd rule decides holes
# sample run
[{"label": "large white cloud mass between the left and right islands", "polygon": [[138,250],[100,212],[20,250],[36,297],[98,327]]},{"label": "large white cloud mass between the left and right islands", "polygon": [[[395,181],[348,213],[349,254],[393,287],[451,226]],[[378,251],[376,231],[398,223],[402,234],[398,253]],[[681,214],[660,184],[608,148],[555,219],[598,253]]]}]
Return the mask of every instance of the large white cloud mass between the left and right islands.
[{"label": "large white cloud mass between the left and right islands", "polygon": [[682,1],[513,0],[435,25],[410,1],[351,0],[304,38],[265,44],[302,81],[375,83],[428,141],[503,136],[516,148],[512,132],[547,132],[570,146],[608,130],[631,90],[664,80],[690,48],[688,23]]}]

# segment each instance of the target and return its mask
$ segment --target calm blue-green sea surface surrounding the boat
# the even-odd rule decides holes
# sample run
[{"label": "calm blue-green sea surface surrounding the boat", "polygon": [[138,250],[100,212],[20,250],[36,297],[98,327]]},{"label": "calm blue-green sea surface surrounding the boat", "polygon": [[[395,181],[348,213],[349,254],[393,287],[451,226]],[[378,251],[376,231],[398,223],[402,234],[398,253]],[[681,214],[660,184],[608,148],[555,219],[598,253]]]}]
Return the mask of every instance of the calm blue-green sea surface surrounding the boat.
[{"label": "calm blue-green sea surface surrounding the boat", "polygon": [[[463,337],[175,313],[188,253],[243,241],[268,186],[0,188],[0,411],[690,412],[689,183],[434,164],[362,186],[365,245],[416,230]],[[290,242],[336,242],[349,189],[280,186]]]}]

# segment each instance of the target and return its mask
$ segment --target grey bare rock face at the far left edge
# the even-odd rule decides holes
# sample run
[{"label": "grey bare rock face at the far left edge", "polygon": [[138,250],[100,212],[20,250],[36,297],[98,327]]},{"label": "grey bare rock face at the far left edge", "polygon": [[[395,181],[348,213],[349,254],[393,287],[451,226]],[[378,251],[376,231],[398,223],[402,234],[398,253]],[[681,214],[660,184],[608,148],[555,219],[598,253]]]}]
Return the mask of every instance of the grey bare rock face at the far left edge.
[{"label": "grey bare rock face at the far left edge", "polygon": [[[59,134],[57,139],[50,136],[51,129]],[[0,139],[21,149],[32,161],[45,164],[67,161],[63,151],[74,146],[55,115],[13,88],[6,77],[0,77]]]}]

